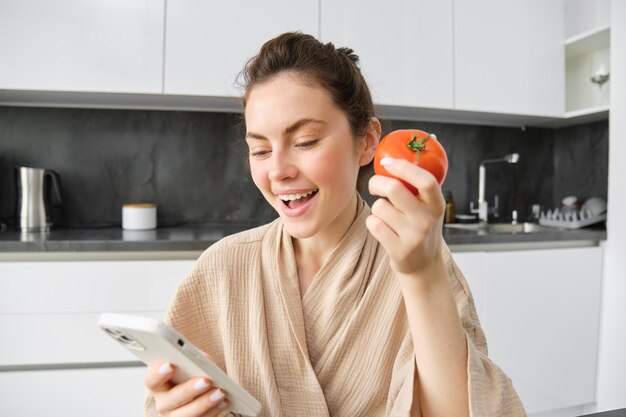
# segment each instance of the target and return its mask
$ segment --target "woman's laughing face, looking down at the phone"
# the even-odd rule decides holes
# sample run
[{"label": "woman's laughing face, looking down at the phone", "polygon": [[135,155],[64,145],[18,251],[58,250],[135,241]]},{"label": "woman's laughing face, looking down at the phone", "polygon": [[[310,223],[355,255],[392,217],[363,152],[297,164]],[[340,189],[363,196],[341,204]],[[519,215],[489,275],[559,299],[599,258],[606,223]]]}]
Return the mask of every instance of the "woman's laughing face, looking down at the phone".
[{"label": "woman's laughing face, looking down at the phone", "polygon": [[245,120],[252,179],[287,232],[343,235],[355,215],[359,167],[371,152],[354,139],[330,94],[279,74],[252,88]]}]

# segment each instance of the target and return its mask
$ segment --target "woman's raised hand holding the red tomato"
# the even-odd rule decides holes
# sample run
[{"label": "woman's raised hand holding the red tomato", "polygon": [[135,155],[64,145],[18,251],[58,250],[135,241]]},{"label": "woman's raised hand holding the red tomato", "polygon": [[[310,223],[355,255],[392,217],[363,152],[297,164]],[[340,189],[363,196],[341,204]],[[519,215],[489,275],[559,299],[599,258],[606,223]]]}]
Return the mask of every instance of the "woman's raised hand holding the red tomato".
[{"label": "woman's raised hand holding the red tomato", "polygon": [[395,178],[374,175],[369,191],[385,198],[372,205],[367,228],[387,251],[396,273],[430,272],[442,262],[441,229],[446,203],[441,187],[430,172],[403,159],[391,159],[385,168],[417,188],[419,194],[413,195]]}]

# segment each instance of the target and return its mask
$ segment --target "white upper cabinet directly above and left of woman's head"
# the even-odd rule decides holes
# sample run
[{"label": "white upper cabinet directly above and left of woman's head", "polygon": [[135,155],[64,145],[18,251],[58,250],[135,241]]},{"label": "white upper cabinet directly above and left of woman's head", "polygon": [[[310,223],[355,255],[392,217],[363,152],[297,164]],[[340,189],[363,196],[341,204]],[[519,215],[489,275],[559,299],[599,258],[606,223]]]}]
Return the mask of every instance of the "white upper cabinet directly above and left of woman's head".
[{"label": "white upper cabinet directly above and left of woman's head", "polygon": [[318,36],[317,0],[167,3],[165,94],[238,96],[237,74],[270,38],[299,30]]}]

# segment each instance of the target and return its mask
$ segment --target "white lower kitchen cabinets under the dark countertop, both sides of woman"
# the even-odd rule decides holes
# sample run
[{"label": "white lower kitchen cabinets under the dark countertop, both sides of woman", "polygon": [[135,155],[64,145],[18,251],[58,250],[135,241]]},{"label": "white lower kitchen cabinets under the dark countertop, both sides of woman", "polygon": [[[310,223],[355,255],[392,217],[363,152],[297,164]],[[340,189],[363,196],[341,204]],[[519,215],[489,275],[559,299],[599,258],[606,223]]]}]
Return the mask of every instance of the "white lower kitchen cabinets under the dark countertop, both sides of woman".
[{"label": "white lower kitchen cabinets under the dark countertop, both sides of woman", "polygon": [[[593,402],[602,248],[452,250],[527,412]],[[142,415],[145,367],[98,315],[163,317],[194,262],[0,262],[0,416]]]}]

